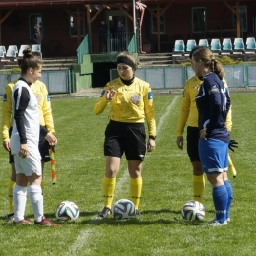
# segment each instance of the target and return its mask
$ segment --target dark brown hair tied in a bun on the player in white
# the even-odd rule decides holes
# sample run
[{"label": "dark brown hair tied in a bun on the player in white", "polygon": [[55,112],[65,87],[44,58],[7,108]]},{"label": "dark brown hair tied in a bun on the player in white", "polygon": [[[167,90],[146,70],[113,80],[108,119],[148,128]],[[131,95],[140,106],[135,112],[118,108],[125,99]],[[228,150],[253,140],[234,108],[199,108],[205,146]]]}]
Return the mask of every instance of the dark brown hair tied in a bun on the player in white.
[{"label": "dark brown hair tied in a bun on the player in white", "polygon": [[21,68],[21,75],[24,75],[29,68],[39,69],[42,62],[32,54],[32,49],[28,47],[23,51],[23,57],[18,59],[18,65]]}]

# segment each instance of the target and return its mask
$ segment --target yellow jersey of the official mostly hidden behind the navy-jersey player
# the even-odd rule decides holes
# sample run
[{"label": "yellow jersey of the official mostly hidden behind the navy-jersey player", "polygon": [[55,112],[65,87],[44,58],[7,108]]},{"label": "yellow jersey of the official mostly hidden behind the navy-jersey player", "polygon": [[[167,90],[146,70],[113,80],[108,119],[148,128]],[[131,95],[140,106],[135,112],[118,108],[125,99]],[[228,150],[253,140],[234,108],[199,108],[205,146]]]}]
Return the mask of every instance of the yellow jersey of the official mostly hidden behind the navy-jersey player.
[{"label": "yellow jersey of the official mostly hidden behind the navy-jersey player", "polygon": [[[224,87],[227,87],[226,81],[223,79]],[[182,136],[185,125],[191,127],[198,127],[198,110],[196,106],[195,98],[198,94],[198,90],[202,84],[202,81],[194,76],[188,79],[185,83],[183,91],[183,100],[179,112],[178,124],[177,124],[177,136]],[[225,126],[229,132],[232,130],[232,110],[231,107],[226,116]]]}]

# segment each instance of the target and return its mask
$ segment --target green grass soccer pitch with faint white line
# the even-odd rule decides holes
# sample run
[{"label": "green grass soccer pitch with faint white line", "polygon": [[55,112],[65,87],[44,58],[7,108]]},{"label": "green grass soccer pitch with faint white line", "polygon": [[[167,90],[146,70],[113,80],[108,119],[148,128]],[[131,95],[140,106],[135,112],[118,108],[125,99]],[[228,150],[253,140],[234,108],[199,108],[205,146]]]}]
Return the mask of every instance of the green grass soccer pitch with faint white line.
[{"label": "green grass soccer pitch with faint white line", "polygon": [[[109,109],[95,116],[96,98],[52,99],[58,138],[57,183],[51,184],[50,164],[46,164],[45,215],[56,221],[57,204],[71,200],[79,206],[80,217],[63,222],[62,227],[5,223],[11,171],[8,155],[1,148],[0,255],[255,255],[255,96],[231,95],[231,137],[239,142],[239,148],[231,153],[237,170],[235,179],[229,175],[234,191],[231,222],[222,227],[207,225],[214,218],[209,183],[203,200],[205,220],[189,222],[180,215],[181,206],[192,199],[191,164],[175,143],[181,95],[154,96],[159,132],[157,148],[147,154],[143,165],[143,215],[127,221],[96,218],[103,207],[103,139]],[[114,201],[129,198],[126,160],[121,163]],[[26,216],[33,218],[29,199]]]}]

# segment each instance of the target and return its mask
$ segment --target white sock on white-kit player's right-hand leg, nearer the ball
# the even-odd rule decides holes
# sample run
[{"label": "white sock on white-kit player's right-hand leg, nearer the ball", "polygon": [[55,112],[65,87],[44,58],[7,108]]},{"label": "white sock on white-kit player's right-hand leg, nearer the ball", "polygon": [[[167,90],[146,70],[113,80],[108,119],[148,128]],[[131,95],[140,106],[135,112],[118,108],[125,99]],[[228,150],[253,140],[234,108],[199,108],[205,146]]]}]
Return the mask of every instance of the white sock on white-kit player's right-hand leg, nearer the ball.
[{"label": "white sock on white-kit player's right-hand leg, nearer the ball", "polygon": [[43,196],[41,194],[41,187],[31,185],[28,188],[28,193],[32,204],[34,220],[36,222],[41,222],[43,216]]}]

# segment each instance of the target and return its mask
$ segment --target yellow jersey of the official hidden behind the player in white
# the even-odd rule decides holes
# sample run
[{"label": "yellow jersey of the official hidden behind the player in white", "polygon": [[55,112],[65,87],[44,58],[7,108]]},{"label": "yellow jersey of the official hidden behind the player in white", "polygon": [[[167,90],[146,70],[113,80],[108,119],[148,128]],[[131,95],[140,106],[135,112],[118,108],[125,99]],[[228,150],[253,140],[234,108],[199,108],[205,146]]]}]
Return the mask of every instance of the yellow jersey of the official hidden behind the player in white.
[{"label": "yellow jersey of the official hidden behind the player in white", "polygon": [[[12,81],[6,85],[3,106],[2,106],[2,136],[3,141],[9,141],[9,129],[13,125],[12,117],[12,92],[16,81]],[[31,85],[32,93],[36,96],[39,108],[40,125],[45,126],[46,129],[55,134],[54,122],[52,117],[50,96],[48,94],[46,85],[37,80]]]}]

